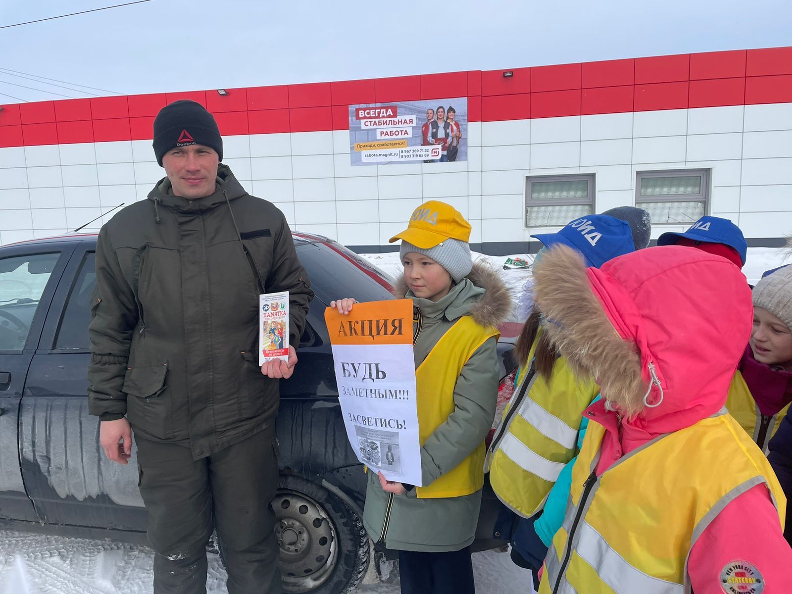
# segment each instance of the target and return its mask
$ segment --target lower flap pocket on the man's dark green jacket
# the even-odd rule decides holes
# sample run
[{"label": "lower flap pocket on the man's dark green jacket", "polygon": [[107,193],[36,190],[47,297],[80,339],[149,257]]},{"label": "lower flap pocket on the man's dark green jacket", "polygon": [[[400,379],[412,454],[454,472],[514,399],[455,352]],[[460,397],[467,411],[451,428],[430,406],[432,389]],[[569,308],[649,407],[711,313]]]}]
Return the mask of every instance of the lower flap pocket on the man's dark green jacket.
[{"label": "lower flap pocket on the man's dark green jacket", "polygon": [[171,436],[171,399],[165,383],[168,363],[127,367],[122,391],[127,394],[127,419],[133,428],[161,440]]}]

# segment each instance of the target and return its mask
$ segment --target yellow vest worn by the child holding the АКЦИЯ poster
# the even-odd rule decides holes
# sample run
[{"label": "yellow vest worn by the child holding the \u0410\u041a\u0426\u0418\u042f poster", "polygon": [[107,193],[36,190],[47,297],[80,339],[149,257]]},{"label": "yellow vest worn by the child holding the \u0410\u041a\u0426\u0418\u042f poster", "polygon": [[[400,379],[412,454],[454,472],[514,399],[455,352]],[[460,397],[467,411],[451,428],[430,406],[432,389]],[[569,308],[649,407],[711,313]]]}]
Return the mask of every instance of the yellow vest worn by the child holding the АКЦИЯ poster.
[{"label": "yellow vest worn by the child holding the \u0410\u041a\u0426\u0418\u042f poster", "polygon": [[[469,315],[451,326],[415,371],[417,384],[418,435],[421,446],[436,428],[454,412],[454,388],[462,368],[473,353],[491,337],[495,328],[479,326]],[[496,398],[496,394],[493,394]],[[437,478],[431,485],[416,487],[419,499],[461,497],[484,486],[484,442],[458,466]]]}]

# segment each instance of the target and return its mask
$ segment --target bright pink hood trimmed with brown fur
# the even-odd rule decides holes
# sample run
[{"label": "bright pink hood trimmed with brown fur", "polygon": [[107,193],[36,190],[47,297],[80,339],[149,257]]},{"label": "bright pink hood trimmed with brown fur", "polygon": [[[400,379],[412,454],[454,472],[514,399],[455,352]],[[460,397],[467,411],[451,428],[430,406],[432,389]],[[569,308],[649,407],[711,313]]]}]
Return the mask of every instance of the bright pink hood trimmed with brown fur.
[{"label": "bright pink hood trimmed with brown fur", "polygon": [[631,427],[677,431],[725,405],[752,327],[751,291],[731,262],[661,246],[585,268],[560,246],[534,275],[550,339]]}]

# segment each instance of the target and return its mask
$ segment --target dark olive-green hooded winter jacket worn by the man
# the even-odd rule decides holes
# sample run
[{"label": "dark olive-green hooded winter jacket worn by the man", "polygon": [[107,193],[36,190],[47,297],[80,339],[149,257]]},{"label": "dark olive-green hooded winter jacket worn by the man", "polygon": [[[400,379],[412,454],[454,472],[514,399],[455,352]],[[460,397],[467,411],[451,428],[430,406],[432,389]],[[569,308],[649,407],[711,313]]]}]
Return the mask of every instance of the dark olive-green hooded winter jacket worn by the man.
[{"label": "dark olive-green hooded winter jacket worn by the man", "polygon": [[314,295],[283,213],[222,164],[215,192],[196,200],[165,178],[101,228],[96,261],[91,414],[126,416],[194,459],[272,424],[278,380],[258,365],[257,276],[266,292],[290,291],[291,345]]}]

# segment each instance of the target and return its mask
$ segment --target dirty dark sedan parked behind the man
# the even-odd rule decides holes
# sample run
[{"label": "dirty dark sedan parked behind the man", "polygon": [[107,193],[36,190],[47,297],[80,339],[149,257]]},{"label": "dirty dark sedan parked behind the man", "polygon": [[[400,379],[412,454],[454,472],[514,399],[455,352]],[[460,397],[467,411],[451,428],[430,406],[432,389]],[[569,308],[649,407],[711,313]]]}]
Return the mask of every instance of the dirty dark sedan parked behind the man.
[{"label": "dirty dark sedan parked behind the man", "polygon": [[[281,569],[287,592],[346,592],[370,556],[360,521],[365,478],[341,419],[324,310],[341,296],[392,299],[390,279],[327,238],[295,234],[294,242],[316,298],[298,372],[280,384]],[[95,249],[96,235],[86,234],[0,248],[0,525],[144,542],[135,449],[128,466],[110,463],[88,414]],[[505,378],[515,367],[509,339],[499,352]],[[495,502],[485,493],[478,549],[494,543]]]}]

